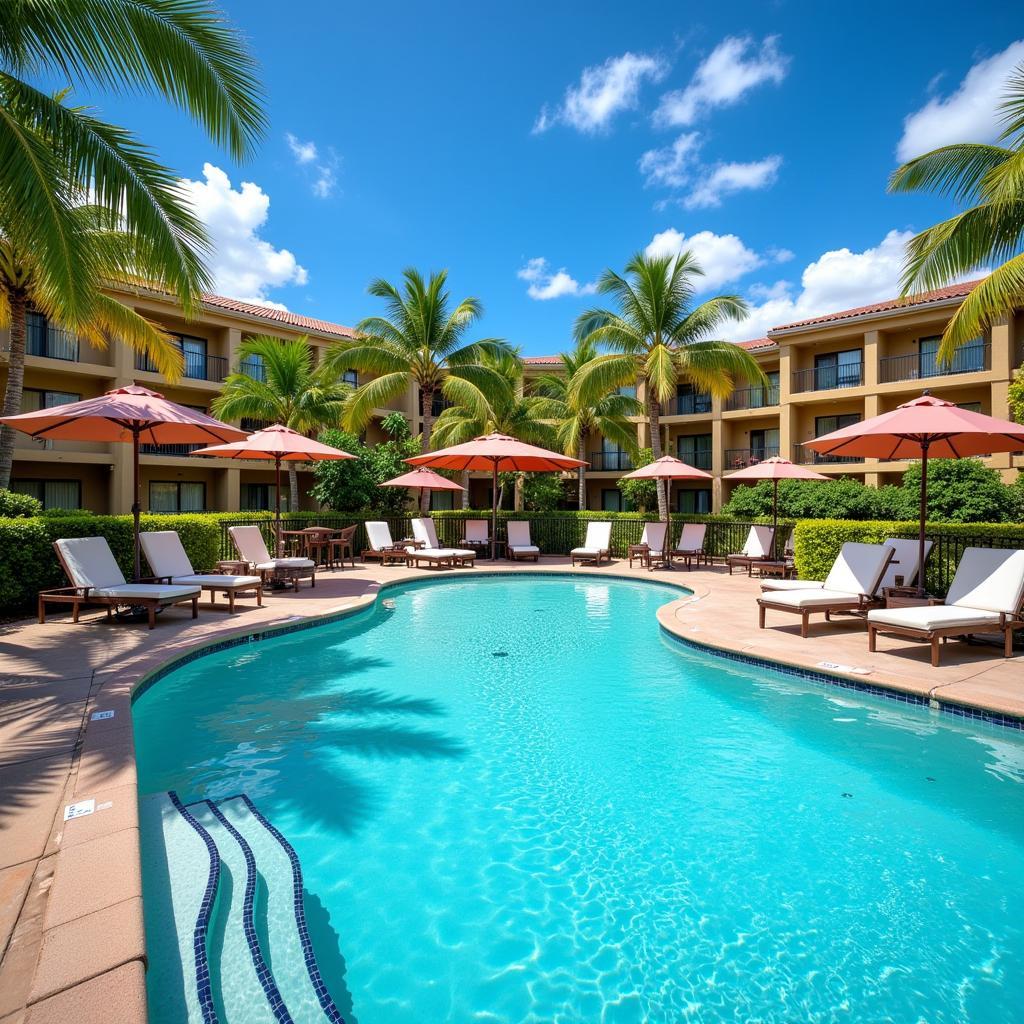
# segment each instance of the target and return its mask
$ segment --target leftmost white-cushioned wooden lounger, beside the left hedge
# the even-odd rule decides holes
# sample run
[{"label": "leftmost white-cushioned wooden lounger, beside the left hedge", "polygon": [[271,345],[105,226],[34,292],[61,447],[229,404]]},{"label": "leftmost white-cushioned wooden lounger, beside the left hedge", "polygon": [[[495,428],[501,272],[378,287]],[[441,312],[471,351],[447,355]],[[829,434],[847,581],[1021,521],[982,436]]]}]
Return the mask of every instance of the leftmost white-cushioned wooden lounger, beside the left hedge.
[{"label": "leftmost white-cushioned wooden lounger, beside the left hedge", "polygon": [[158,583],[128,583],[114,558],[104,537],[76,537],[55,541],[53,548],[70,587],[44,590],[39,595],[39,621],[46,622],[47,604],[70,604],[72,621],[78,622],[82,605],[105,605],[106,617],[118,607],[143,607],[148,612],[150,629],[157,625],[157,609],[171,604],[191,603],[193,618],[199,615],[198,586],[172,586]]}]

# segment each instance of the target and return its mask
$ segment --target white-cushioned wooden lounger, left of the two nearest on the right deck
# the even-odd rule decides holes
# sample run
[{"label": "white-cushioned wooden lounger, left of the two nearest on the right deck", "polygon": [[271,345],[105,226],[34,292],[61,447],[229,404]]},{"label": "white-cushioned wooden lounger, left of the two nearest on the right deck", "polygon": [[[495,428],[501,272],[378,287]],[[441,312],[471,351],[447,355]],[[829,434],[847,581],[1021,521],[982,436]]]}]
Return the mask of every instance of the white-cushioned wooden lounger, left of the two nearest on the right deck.
[{"label": "white-cushioned wooden lounger, left of the two nearest on the right deck", "polygon": [[793,591],[766,591],[758,598],[758,625],[765,628],[765,611],[788,611],[800,615],[800,635],[806,639],[810,616],[824,612],[825,621],[834,611],[866,611],[877,603],[874,596],[893,557],[885,544],[843,545],[823,587]]}]

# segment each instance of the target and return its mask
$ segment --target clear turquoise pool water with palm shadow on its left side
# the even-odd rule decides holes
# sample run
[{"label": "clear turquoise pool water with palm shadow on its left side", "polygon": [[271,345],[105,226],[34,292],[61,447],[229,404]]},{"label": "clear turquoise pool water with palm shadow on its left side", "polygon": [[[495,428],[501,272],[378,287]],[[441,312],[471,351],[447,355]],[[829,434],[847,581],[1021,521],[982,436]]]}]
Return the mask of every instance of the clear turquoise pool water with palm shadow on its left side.
[{"label": "clear turquoise pool water with palm shadow on its left side", "polygon": [[140,792],[284,833],[349,1022],[1019,1019],[1024,739],[687,650],[677,596],[447,577],[201,658]]}]

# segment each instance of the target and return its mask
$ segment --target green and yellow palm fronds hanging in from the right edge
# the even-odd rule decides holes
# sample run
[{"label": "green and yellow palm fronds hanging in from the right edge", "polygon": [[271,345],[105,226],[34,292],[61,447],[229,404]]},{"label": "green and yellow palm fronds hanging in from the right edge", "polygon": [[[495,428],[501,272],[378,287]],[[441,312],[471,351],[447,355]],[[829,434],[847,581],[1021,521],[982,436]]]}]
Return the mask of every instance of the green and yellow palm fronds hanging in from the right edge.
[{"label": "green and yellow palm fronds hanging in from the right edge", "polygon": [[1024,65],[1010,78],[1000,113],[1005,145],[944,145],[903,164],[889,180],[890,191],[934,191],[967,207],[907,243],[904,295],[998,264],[946,325],[944,361],[1024,304]]}]

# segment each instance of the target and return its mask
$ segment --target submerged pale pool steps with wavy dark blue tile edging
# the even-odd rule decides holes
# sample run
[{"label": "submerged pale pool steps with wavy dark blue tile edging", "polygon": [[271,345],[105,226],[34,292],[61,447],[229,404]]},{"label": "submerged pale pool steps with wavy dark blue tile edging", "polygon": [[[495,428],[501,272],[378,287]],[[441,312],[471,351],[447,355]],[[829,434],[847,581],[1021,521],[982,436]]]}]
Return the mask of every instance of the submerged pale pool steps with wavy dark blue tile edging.
[{"label": "submerged pale pool steps with wavy dark blue tile edging", "polygon": [[[244,999],[247,1008],[259,1006],[258,1012],[246,1011],[247,1024],[250,1019],[253,1024],[307,1024],[314,1020],[344,1024],[316,963],[303,905],[302,867],[292,845],[245,794],[190,804],[183,804],[173,791],[167,798],[209,853],[206,892],[193,934],[193,979],[202,1024],[221,1024],[218,1001],[223,1000],[221,1005],[227,1012],[227,1000],[232,995]],[[273,885],[274,869],[279,877],[286,872],[290,876],[290,892],[283,892],[282,885]],[[245,878],[244,886],[232,883],[226,887],[226,905],[225,871],[232,879]],[[256,927],[261,881],[267,902],[265,936]],[[233,949],[237,959],[248,958],[251,973],[232,971],[228,977],[211,968],[210,937],[215,924],[219,927],[221,923],[225,954]],[[267,956],[264,942],[272,945],[272,957]],[[295,970],[298,958],[304,970]],[[279,967],[276,975],[271,963]],[[290,968],[284,974],[282,964]]]}]

